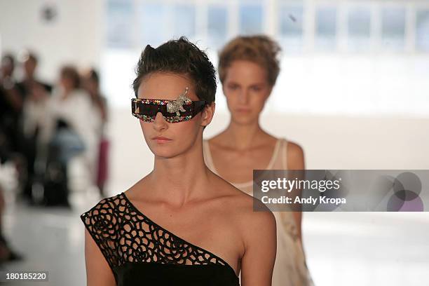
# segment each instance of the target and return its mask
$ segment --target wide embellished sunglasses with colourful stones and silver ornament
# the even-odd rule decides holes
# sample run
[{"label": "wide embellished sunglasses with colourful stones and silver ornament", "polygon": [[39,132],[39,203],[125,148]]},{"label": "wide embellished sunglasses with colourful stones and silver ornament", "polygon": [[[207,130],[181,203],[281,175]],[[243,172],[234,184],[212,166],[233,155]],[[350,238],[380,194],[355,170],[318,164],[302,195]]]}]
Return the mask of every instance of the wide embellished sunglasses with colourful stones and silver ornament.
[{"label": "wide embellished sunglasses with colourful stones and silver ornament", "polygon": [[131,113],[144,122],[154,122],[158,112],[163,114],[168,123],[188,121],[202,111],[206,104],[205,100],[192,101],[187,97],[188,90],[186,87],[177,100],[132,98]]}]

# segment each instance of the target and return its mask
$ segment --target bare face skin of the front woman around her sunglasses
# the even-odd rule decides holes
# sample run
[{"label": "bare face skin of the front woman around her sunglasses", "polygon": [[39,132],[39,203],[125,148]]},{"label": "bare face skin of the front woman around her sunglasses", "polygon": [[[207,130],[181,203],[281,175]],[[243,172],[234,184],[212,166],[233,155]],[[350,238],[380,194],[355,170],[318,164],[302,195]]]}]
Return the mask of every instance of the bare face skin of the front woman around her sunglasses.
[{"label": "bare face skin of the front woman around her sunglasses", "polygon": [[[199,100],[195,94],[193,83],[186,76],[177,74],[154,73],[142,80],[137,98],[156,100],[176,100],[189,87],[187,96],[191,100]],[[206,107],[213,108],[212,107]],[[172,158],[191,149],[199,137],[202,139],[203,126],[211,121],[206,111],[198,113],[189,121],[168,123],[161,112],[156,114],[154,122],[140,121],[144,139],[155,156]],[[168,139],[154,139],[166,137]]]}]

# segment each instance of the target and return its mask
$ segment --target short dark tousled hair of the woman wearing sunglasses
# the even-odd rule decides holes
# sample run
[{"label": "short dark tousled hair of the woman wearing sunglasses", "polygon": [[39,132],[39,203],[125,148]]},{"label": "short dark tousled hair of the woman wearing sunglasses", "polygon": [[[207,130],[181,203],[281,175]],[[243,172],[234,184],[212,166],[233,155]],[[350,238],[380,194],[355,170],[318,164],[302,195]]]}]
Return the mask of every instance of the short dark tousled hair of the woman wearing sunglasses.
[{"label": "short dark tousled hair of the woman wearing sunglasses", "polygon": [[147,45],[140,55],[135,69],[136,78],[132,82],[135,97],[145,76],[154,72],[183,74],[193,81],[196,95],[207,104],[214,102],[216,94],[216,70],[203,50],[181,36],[170,40],[158,48]]}]

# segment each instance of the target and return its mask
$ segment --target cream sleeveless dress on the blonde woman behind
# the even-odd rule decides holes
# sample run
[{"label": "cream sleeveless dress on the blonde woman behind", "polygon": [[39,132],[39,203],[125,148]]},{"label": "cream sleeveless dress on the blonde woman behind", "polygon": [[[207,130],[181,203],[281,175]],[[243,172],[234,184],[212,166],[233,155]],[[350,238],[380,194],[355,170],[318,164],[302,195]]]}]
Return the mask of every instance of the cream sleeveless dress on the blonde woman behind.
[{"label": "cream sleeveless dress on the blonde woman behind", "polygon": [[[213,164],[210,146],[203,140],[204,161],[207,167],[219,175]],[[287,170],[287,140],[278,139],[266,170]],[[252,196],[253,181],[231,183],[237,189]],[[306,266],[301,240],[298,238],[297,224],[292,212],[273,212],[277,224],[277,254],[273,271],[273,286],[313,285]],[[241,277],[240,277],[241,280]]]}]

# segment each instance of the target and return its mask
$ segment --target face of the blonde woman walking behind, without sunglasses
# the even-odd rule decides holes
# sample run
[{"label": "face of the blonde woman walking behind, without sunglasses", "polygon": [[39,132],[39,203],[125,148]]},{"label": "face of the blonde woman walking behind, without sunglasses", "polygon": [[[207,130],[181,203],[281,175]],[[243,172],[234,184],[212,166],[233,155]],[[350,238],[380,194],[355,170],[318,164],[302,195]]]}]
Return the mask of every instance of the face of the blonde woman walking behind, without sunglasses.
[{"label": "face of the blonde woman walking behind, without sunglasses", "polygon": [[223,83],[231,120],[243,124],[257,121],[271,89],[266,69],[247,60],[233,61]]}]

